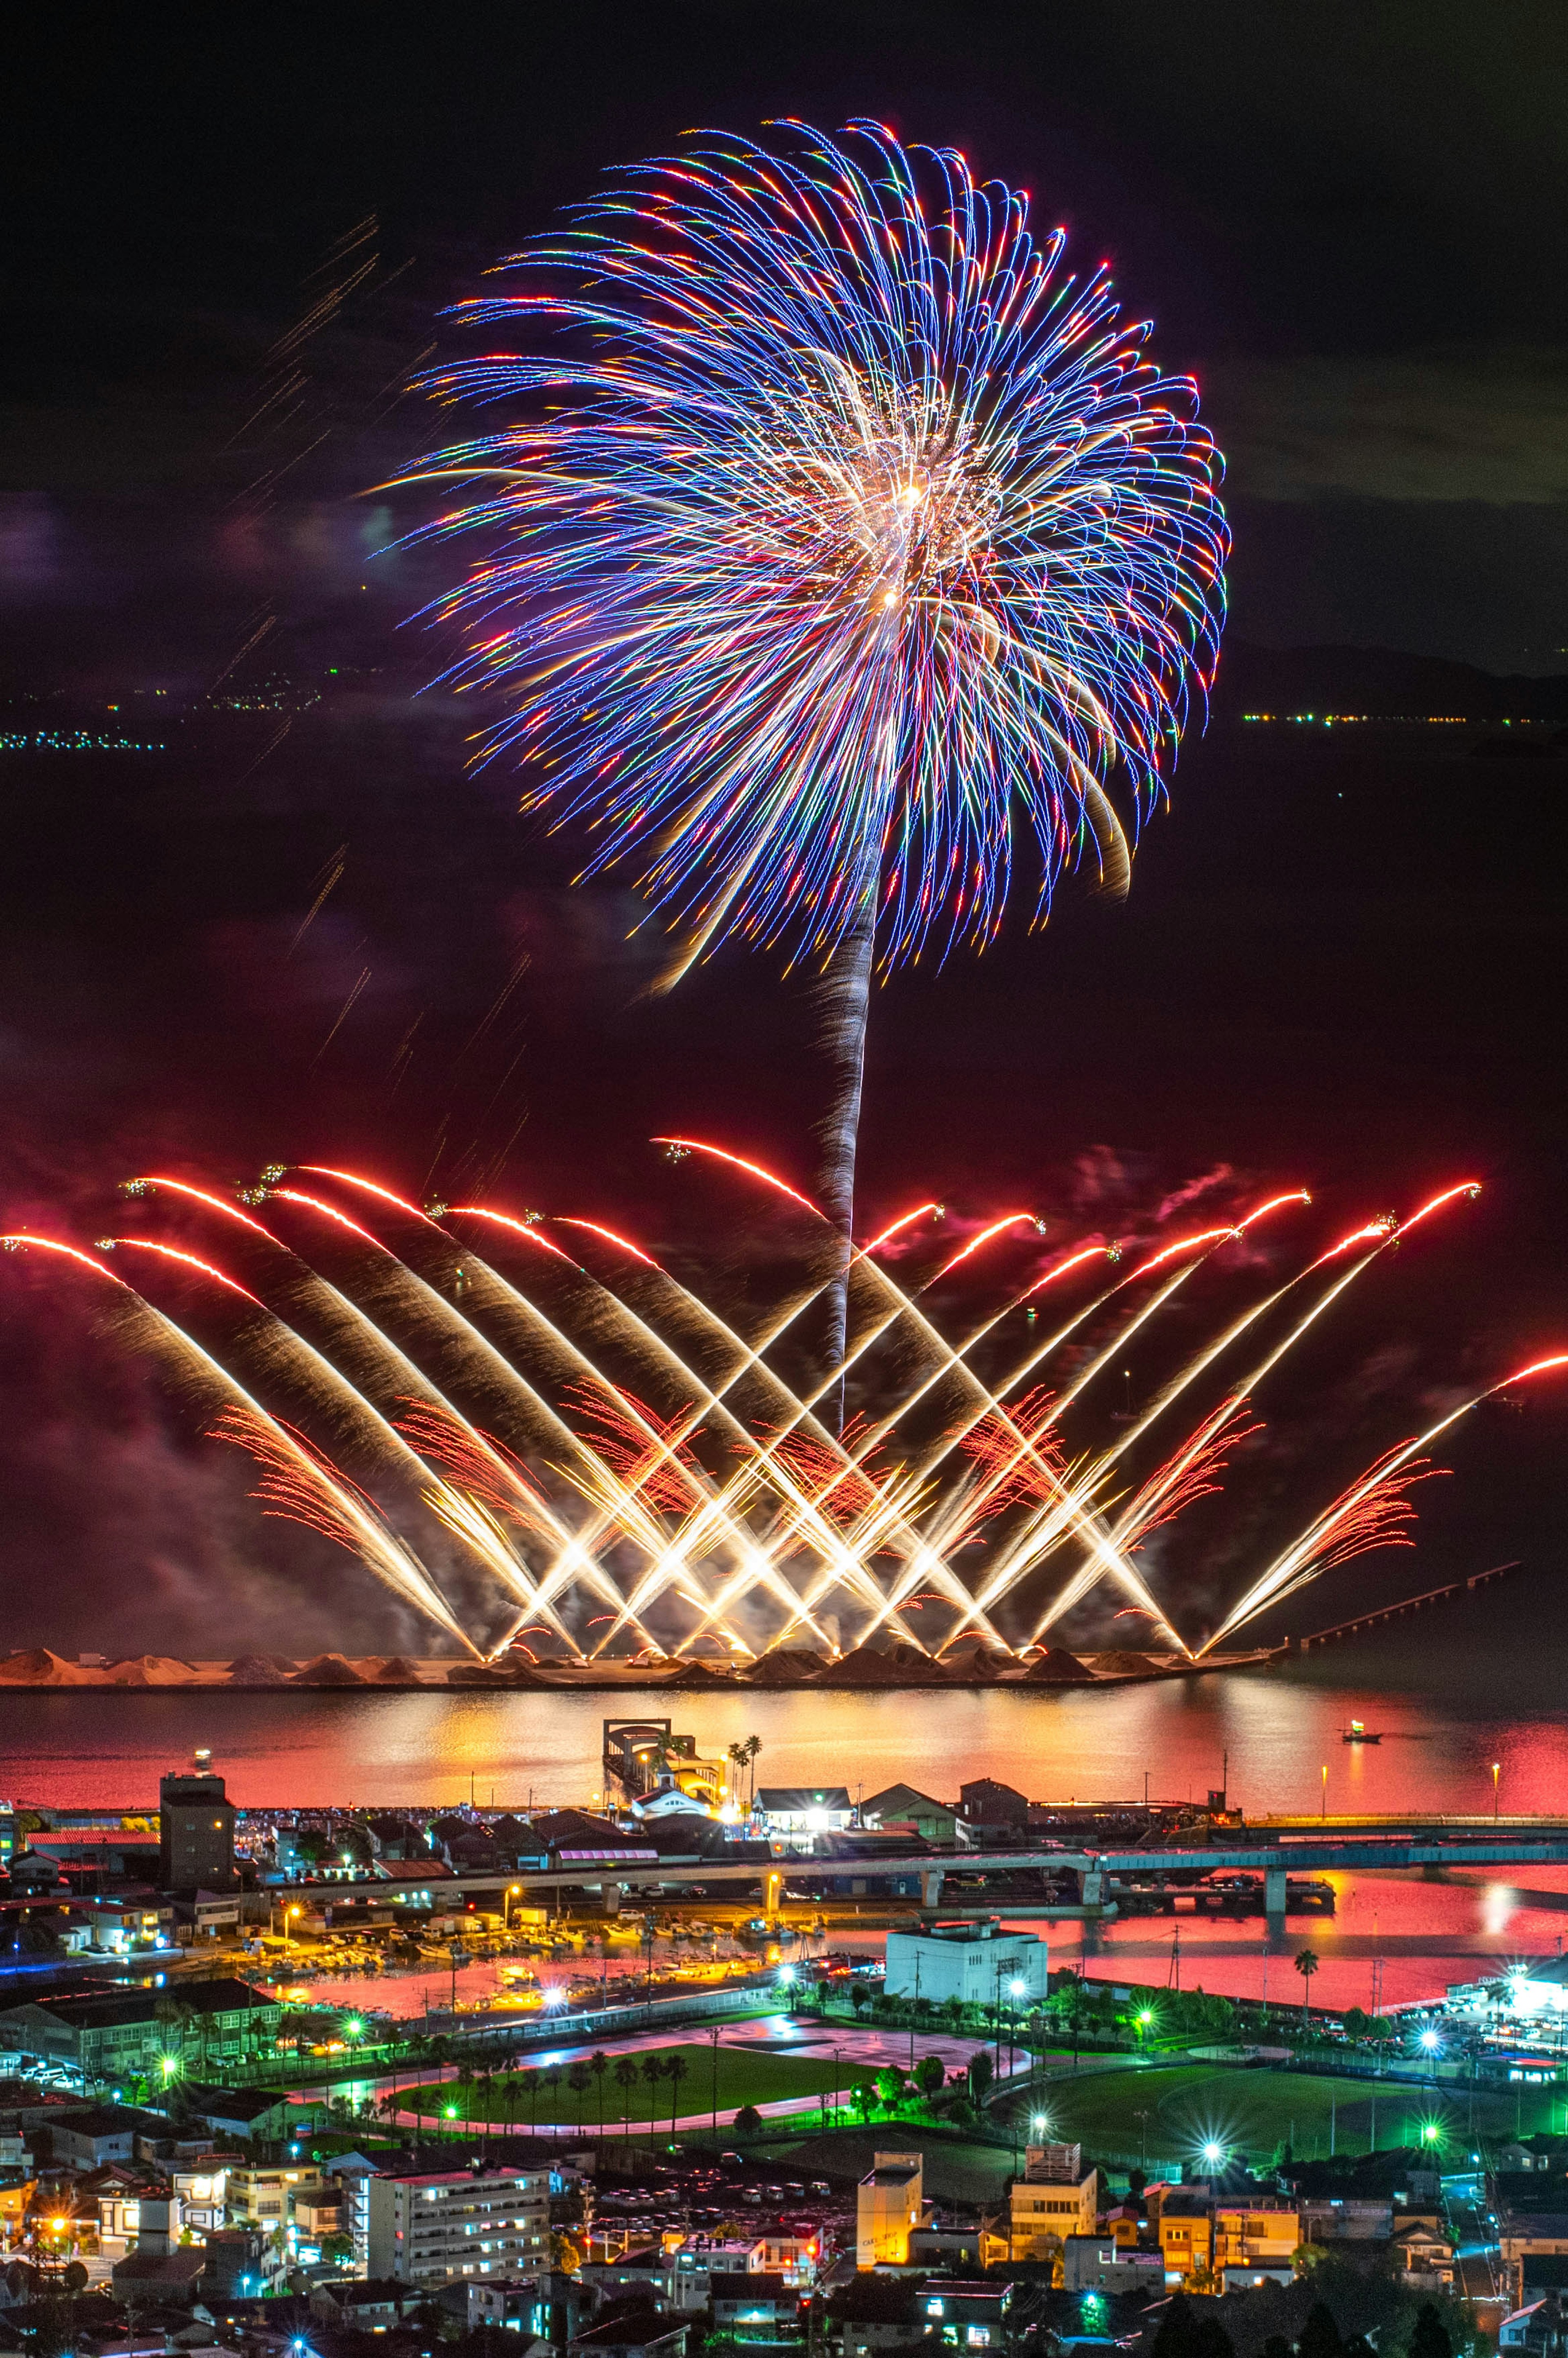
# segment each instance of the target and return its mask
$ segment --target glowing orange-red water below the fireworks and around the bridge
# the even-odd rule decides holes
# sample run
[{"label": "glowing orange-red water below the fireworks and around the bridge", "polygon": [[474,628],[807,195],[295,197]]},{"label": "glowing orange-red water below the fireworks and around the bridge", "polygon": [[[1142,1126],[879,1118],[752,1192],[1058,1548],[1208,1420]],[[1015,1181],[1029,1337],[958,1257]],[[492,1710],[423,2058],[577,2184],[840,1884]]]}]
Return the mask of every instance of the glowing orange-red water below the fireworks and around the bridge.
[{"label": "glowing orange-red water below the fireworks and around the bridge", "polygon": [[[1115,1693],[915,1695],[486,1695],[486,1693],[262,1693],[182,1691],[12,1693],[0,1785],[54,1804],[146,1804],[158,1773],[212,1745],[241,1804],[344,1806],[436,1804],[474,1794],[526,1809],[587,1802],[601,1787],[606,1714],[648,1710],[691,1731],[707,1754],[740,1735],[762,1738],[764,1785],[842,1778],[870,1794],[908,1778],[953,1797],[969,1778],[1000,1778],[1035,1802],[1203,1799],[1228,1783],[1247,1811],[1316,1816],[1353,1811],[1450,1811],[1481,1820],[1493,1809],[1561,1809],[1568,1790],[1568,1726],[1509,1717],[1507,1702],[1422,1702],[1401,1691],[1320,1686],[1287,1672],[1129,1686]],[[1379,1745],[1346,1745],[1363,1719]],[[1500,1761],[1493,1787],[1493,1761]],[[1327,1780],[1323,1771],[1327,1768]],[[1323,1959],[1313,2000],[1370,2004],[1427,1997],[1469,1981],[1488,1959],[1554,1955],[1568,1931],[1568,1870],[1521,1868],[1516,1882],[1485,1872],[1438,1877],[1335,1877],[1337,1915],[1299,1917],[1266,1943],[1261,1922],[1177,1924],[1132,1919],[1092,1934],[1087,1967],[1228,1995],[1299,1997],[1290,1957],[1304,1943]],[[1177,1957],[1172,1938],[1179,1934]],[[1052,1934],[1075,1962],[1073,1926]],[[450,1993],[450,1976],[441,1981]],[[332,1985],[323,1985],[323,1995]],[[368,1993],[365,1993],[368,1995]],[[387,1985],[382,1985],[387,2002]],[[422,1993],[410,1990],[422,2011]]]}]

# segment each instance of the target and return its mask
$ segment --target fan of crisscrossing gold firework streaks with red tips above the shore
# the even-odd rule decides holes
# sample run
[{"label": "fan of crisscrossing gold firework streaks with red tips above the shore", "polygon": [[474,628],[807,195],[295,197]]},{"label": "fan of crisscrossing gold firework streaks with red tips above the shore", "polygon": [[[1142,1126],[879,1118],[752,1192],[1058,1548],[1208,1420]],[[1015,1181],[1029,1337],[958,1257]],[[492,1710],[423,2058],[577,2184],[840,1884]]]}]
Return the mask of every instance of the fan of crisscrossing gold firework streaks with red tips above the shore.
[{"label": "fan of crisscrossing gold firework streaks with red tips above the shore", "polygon": [[[788,1181],[724,1148],[686,1146],[778,1203],[780,1229],[797,1224],[806,1200]],[[846,1361],[797,1394],[778,1358],[830,1283],[809,1269],[759,1332],[743,1335],[618,1226],[549,1221],[585,1238],[589,1269],[542,1238],[538,1217],[481,1205],[436,1217],[351,1172],[314,1177],[365,1217],[285,1184],[281,1170],[248,1191],[248,1212],[189,1181],[132,1181],[153,1210],[167,1193],[222,1226],[238,1271],[158,1236],[106,1238],[92,1252],[24,1233],[0,1243],[108,1283],[127,1335],[167,1349],[203,1398],[219,1401],[210,1431],[252,1457],[266,1511],[349,1549],[406,1606],[483,1653],[523,1627],[578,1658],[714,1644],[759,1653],[802,1639],[837,1653],[877,1632],[938,1655],[964,1632],[1019,1651],[1111,1582],[1158,1644],[1200,1660],[1306,1580],[1410,1544],[1412,1488],[1441,1471],[1431,1445],[1504,1389],[1384,1450],[1278,1547],[1210,1634],[1184,1634],[1193,1608],[1179,1519],[1245,1469],[1273,1370],[1391,1245],[1474,1198],[1474,1184],[1309,1250],[1101,1438],[1094,1387],[1129,1339],[1144,1335],[1148,1349],[1167,1304],[1224,1271],[1228,1247],[1264,1217],[1302,1219],[1304,1193],[1158,1247],[1054,1247],[1045,1271],[1033,1257],[960,1339],[943,1335],[934,1290],[948,1299],[955,1278],[983,1283],[986,1247],[1016,1238],[1019,1214],[981,1221],[969,1245],[943,1252],[941,1207],[922,1205],[854,1254]],[[929,1271],[922,1280],[901,1285],[875,1257],[894,1233]],[[481,1259],[474,1236],[500,1266]],[[104,1254],[127,1247],[111,1269]],[[132,1287],[130,1266],[139,1285],[179,1287],[182,1316]],[[1111,1283],[1096,1285],[1096,1269]],[[1073,1287],[1080,1299],[1063,1299],[1054,1332],[1037,1337],[1035,1304]],[[1247,1363],[1226,1372],[1254,1330]],[[1507,1382],[1563,1365],[1568,1356],[1551,1356]],[[849,1370],[884,1405],[837,1431],[818,1410]],[[1214,1384],[1219,1396],[1151,1455],[1155,1429]],[[356,1471],[311,1431],[321,1424],[337,1453],[356,1450]],[[424,1535],[406,1528],[410,1514]],[[1155,1533],[1158,1570],[1134,1561]],[[453,1575],[465,1599],[479,1592],[483,1639],[453,1603]],[[915,1608],[927,1636],[905,1618]]]}]

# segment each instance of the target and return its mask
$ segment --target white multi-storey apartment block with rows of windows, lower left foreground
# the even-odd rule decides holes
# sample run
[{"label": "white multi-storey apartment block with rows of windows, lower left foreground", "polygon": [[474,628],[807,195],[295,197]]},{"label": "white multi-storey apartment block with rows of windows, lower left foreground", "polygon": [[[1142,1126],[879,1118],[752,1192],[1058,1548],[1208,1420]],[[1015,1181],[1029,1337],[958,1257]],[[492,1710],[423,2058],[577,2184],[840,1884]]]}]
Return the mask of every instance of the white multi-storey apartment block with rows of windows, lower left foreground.
[{"label": "white multi-storey apartment block with rows of windows, lower left foreground", "polygon": [[549,2266],[547,2169],[410,2169],[370,2179],[370,2275],[448,2285]]}]

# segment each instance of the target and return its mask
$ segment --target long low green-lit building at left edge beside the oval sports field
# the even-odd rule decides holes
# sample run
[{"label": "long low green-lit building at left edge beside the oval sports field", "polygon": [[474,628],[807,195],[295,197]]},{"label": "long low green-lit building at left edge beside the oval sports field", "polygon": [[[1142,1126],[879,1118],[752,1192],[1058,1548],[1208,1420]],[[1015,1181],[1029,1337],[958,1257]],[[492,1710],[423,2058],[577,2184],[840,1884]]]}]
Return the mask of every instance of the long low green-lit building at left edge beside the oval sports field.
[{"label": "long low green-lit building at left edge beside the oval sports field", "polygon": [[177,2073],[276,2044],[283,2007],[245,1981],[189,1981],[179,1990],[40,1997],[0,2011],[0,2049],[66,2063],[83,2080],[163,2087]]}]

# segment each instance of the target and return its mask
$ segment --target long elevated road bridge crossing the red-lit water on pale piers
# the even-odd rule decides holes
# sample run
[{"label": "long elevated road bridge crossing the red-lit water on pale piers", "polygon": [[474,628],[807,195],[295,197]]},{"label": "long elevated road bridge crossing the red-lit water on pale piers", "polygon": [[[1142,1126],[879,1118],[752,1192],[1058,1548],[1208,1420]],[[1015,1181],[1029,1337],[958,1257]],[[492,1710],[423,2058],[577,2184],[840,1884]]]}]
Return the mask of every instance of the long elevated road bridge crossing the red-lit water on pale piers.
[{"label": "long elevated road bridge crossing the red-lit water on pale piers", "polygon": [[[1261,1818],[1240,1830],[1217,1832],[1210,1842],[1193,1842],[1181,1849],[1120,1849],[1120,1851],[1068,1851],[1056,1844],[1019,1844],[1016,1849],[917,1849],[877,1851],[861,1858],[818,1858],[813,1853],[785,1851],[769,1863],[726,1863],[712,1858],[660,1858],[625,1860],[613,1851],[601,1851],[594,1860],[573,1860],[556,1868],[519,1868],[505,1872],[457,1872],[427,1886],[429,1903],[439,1901],[516,1901],[559,1898],[566,1891],[592,1891],[599,1896],[604,1915],[620,1915],[637,1896],[658,1898],[667,1891],[686,1891],[693,1884],[736,1893],[755,1891],[769,1912],[785,1893],[790,1879],[813,1886],[865,1886],[887,1877],[920,1879],[920,1905],[941,1908],[943,1886],[962,1879],[962,1891],[953,1891],[950,1908],[1004,1905],[1014,1917],[1052,1915],[1101,1915],[1115,1908],[1120,1877],[1203,1877],[1224,1872],[1254,1872],[1264,1877],[1264,1912],[1285,1915],[1285,1879],[1290,1875],[1325,1875],[1335,1870],[1382,1870],[1410,1868],[1516,1868],[1516,1865],[1568,1865],[1568,1818]],[[1078,1905],[1035,1903],[1028,1898],[988,1901],[983,1884],[997,1875],[1045,1875],[1070,1877],[1078,1884]],[[976,1889],[979,1884],[979,1889]],[[307,1891],[325,1903],[335,1901],[389,1901],[403,1884],[387,1884],[377,1877],[354,1877],[344,1882],[290,1884],[288,1891]]]}]

